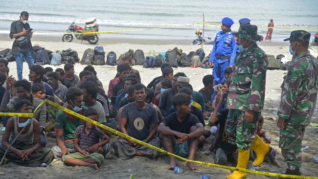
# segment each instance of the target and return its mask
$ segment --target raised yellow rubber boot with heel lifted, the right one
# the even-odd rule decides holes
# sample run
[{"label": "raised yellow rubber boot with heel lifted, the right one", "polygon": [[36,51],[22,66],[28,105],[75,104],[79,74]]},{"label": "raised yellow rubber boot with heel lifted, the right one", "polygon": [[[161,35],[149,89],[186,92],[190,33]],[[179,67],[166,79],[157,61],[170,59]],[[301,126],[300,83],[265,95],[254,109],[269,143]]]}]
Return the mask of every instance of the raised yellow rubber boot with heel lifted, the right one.
[{"label": "raised yellow rubber boot with heel lifted, the right one", "polygon": [[250,149],[256,153],[256,159],[253,161],[253,166],[256,167],[263,163],[264,157],[270,151],[271,147],[269,144],[265,143],[261,137],[256,135]]}]

